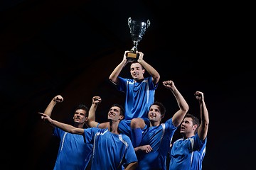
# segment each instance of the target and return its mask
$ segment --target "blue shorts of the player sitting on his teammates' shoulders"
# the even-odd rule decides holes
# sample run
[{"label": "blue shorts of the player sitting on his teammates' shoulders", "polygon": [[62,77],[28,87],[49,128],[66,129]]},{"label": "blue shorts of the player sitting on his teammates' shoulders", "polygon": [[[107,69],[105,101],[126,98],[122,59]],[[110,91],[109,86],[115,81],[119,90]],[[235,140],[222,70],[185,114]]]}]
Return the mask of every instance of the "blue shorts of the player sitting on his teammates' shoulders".
[{"label": "blue shorts of the player sitting on his teammates' shoulders", "polygon": [[[145,127],[142,129],[142,131],[146,130],[150,126],[149,118],[142,118],[145,122]],[[131,120],[121,120],[118,125],[118,130],[120,130],[122,133],[127,135],[128,137],[131,137]]]}]

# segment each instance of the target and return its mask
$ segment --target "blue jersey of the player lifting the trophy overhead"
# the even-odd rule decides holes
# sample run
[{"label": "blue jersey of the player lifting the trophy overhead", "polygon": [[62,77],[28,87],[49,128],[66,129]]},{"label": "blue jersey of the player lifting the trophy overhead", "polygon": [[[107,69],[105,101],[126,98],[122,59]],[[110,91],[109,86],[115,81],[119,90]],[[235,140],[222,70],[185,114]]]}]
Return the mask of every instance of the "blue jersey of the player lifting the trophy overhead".
[{"label": "blue jersey of the player lifting the trophy overhead", "polygon": [[149,107],[154,103],[154,94],[158,84],[154,85],[152,77],[146,77],[142,82],[118,78],[117,89],[126,94],[124,119],[147,118]]}]

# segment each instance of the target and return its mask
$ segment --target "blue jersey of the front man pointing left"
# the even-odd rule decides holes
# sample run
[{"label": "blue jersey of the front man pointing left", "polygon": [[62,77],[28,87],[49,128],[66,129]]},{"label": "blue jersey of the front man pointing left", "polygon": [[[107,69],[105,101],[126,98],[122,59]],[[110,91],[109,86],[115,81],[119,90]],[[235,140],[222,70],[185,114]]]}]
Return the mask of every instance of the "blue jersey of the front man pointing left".
[{"label": "blue jersey of the front man pointing left", "polygon": [[117,135],[107,129],[87,128],[85,142],[93,143],[92,170],[124,169],[127,164],[137,162],[127,135]]}]

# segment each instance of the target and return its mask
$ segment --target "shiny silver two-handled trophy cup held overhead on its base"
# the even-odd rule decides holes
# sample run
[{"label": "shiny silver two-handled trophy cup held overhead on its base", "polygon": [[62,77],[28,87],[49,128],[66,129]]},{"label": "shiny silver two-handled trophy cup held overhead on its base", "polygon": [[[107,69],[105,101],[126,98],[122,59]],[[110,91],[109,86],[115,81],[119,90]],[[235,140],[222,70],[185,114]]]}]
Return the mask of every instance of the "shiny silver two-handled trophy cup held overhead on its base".
[{"label": "shiny silver two-handled trophy cup held overhead on its base", "polygon": [[150,26],[150,21],[147,20],[145,22],[132,21],[132,18],[128,18],[128,26],[130,28],[130,33],[132,35],[133,47],[130,52],[126,53],[127,60],[137,60],[139,58],[139,54],[137,46],[140,40],[142,40],[142,36],[144,35],[146,28]]}]

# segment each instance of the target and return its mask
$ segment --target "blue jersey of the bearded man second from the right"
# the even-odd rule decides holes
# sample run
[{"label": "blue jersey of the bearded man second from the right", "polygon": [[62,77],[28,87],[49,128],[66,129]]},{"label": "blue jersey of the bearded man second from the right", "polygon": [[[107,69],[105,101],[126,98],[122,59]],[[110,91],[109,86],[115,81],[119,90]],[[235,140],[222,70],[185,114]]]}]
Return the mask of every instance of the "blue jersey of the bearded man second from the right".
[{"label": "blue jersey of the bearded man second from the right", "polygon": [[172,123],[172,118],[159,126],[147,128],[142,137],[142,145],[150,145],[152,151],[137,152],[139,166],[137,169],[166,169],[166,157],[169,152],[170,142],[178,127]]}]

